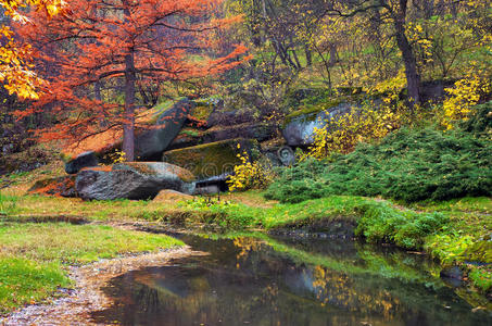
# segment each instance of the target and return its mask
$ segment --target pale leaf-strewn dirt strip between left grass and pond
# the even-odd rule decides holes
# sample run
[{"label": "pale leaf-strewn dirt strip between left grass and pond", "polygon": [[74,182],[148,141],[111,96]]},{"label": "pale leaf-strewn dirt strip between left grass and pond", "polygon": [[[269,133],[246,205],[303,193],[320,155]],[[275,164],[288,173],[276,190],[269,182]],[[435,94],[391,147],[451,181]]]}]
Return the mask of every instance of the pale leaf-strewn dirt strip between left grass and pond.
[{"label": "pale leaf-strewn dirt strip between left grass and pond", "polygon": [[97,325],[91,322],[90,313],[111,305],[111,300],[101,288],[113,277],[143,267],[163,266],[173,259],[204,254],[206,253],[181,247],[70,267],[74,289],[61,290],[58,293],[61,298],[51,299],[43,304],[28,305],[7,317],[0,317],[0,325]]}]

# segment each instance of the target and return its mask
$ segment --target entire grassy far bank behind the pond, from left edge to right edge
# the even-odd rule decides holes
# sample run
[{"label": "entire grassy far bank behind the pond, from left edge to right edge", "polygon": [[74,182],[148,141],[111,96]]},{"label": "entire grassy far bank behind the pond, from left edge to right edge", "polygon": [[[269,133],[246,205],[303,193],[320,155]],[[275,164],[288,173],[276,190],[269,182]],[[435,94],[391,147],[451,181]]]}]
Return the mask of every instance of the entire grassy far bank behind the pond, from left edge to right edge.
[{"label": "entire grassy far bank behind the pond, from left edge to right edge", "polygon": [[[89,220],[147,220],[198,225],[211,230],[297,228],[319,221],[356,225],[369,242],[389,242],[425,250],[444,266],[458,264],[482,292],[492,288],[492,200],[487,197],[406,204],[357,196],[328,196],[301,203],[265,201],[249,191],[223,196],[220,201],[197,197],[188,202],[93,201],[9,195],[0,211],[11,218],[46,214]],[[42,216],[41,216],[42,217]],[[81,236],[81,235],[80,235]]]}]

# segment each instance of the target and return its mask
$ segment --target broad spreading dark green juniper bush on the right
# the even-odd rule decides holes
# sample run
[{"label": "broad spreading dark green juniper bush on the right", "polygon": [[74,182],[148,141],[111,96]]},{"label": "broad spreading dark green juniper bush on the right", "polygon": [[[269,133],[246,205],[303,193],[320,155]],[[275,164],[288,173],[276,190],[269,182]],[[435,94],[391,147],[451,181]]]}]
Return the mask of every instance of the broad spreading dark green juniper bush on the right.
[{"label": "broad spreading dark green juniper bush on the right", "polygon": [[[472,120],[469,124],[469,130],[484,128]],[[492,142],[463,129],[403,128],[332,162],[307,160],[287,168],[265,192],[267,199],[290,203],[329,195],[405,202],[492,196]]]}]

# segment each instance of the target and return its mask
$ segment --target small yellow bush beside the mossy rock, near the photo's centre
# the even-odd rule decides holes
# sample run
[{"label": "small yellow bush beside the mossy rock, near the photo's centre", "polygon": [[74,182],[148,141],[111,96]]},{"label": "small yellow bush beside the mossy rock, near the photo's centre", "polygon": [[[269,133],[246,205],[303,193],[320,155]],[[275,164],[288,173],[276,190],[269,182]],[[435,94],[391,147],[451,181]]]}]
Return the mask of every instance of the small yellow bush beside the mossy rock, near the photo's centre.
[{"label": "small yellow bush beside the mossy rock, near the photo's centre", "polygon": [[238,154],[238,159],[241,164],[234,167],[234,175],[227,181],[230,191],[263,189],[273,181],[274,172],[257,161],[251,162],[245,151]]}]

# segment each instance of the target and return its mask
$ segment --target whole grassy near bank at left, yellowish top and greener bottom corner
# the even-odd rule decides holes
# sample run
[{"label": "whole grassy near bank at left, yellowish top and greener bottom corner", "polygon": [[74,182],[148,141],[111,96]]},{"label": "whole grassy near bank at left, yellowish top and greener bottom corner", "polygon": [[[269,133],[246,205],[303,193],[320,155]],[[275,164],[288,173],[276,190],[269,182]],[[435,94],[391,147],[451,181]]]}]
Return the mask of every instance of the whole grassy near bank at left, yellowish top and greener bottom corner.
[{"label": "whole grassy near bank at left, yellowish top and greener bottom corner", "polygon": [[68,265],[184,244],[161,235],[65,223],[1,223],[0,243],[0,313],[70,286]]}]

